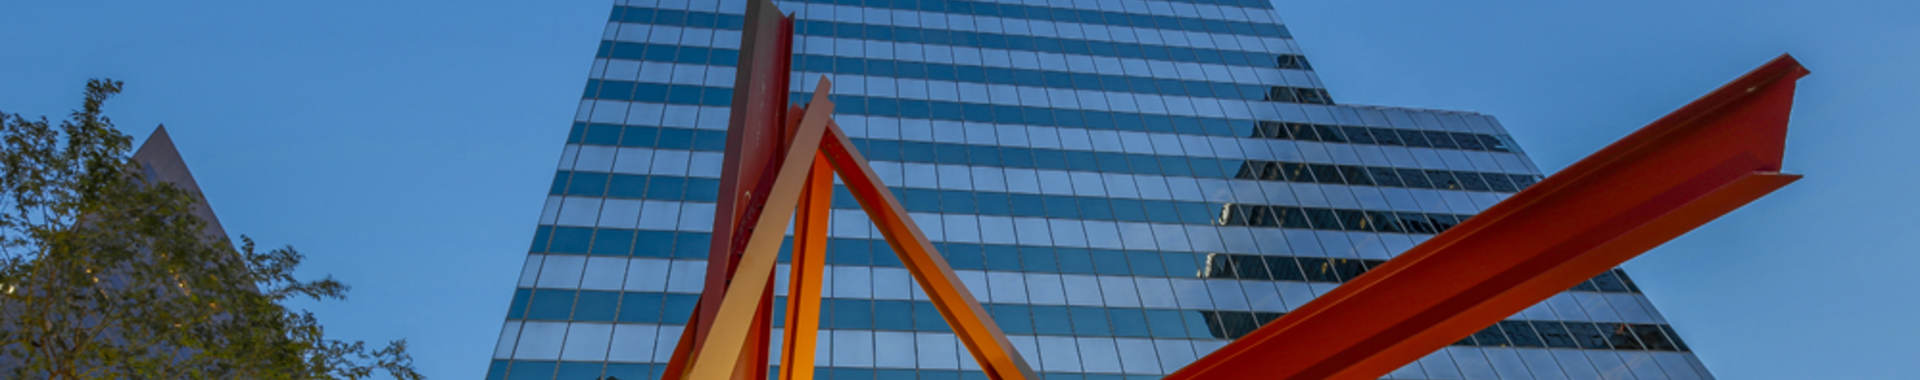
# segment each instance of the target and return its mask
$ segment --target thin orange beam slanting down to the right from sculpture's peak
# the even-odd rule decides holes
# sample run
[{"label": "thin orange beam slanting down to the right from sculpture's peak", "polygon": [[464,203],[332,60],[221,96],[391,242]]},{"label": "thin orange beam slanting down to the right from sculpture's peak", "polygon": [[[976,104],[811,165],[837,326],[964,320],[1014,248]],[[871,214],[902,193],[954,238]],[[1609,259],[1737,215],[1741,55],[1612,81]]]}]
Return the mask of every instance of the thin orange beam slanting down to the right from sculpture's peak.
[{"label": "thin orange beam slanting down to the right from sculpture's peak", "polygon": [[826,132],[822,150],[833,163],[833,171],[841,175],[841,182],[860,202],[860,209],[866,209],[868,219],[887,238],[893,253],[900,257],[920,288],[927,292],[933,307],[960,336],[960,344],[968,347],[987,378],[1037,378],[1027,361],[1006,340],[1006,332],[987,317],[987,311],[979,307],[947,259],[933,249],[927,236],[906,215],[906,207],[900,207],[893,192],[887,192],[874,169],[866,165],[866,157],[860,157],[860,152],[847,140],[847,134],[837,125],[829,125]]}]

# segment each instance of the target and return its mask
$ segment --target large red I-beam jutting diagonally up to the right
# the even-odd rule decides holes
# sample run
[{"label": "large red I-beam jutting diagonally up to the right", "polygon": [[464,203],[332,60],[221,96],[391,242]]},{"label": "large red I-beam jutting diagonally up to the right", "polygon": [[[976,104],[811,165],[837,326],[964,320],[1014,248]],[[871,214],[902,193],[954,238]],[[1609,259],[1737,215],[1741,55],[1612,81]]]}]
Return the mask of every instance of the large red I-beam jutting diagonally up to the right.
[{"label": "large red I-beam jutting diagonally up to the right", "polygon": [[1799,178],[1780,56],[1171,380],[1379,378]]}]

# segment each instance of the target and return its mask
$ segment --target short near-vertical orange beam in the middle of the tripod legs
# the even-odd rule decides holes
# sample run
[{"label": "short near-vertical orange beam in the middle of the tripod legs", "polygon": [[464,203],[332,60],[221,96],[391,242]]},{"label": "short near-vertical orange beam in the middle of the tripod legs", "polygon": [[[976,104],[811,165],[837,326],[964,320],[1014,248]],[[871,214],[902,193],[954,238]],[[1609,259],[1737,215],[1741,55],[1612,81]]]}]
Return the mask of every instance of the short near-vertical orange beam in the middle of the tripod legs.
[{"label": "short near-vertical orange beam in the middle of the tripod legs", "polygon": [[780,380],[814,378],[814,338],[820,334],[820,288],[828,263],[828,217],[833,207],[833,167],[814,154],[799,213],[793,219],[793,259],[787,269],[785,336],[780,340]]}]

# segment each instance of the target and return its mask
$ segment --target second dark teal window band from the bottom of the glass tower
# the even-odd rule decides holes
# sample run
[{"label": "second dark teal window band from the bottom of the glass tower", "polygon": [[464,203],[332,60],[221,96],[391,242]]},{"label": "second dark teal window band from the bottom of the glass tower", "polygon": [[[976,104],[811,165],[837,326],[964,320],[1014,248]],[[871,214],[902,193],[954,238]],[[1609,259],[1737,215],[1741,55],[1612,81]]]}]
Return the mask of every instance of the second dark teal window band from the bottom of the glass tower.
[{"label": "second dark teal window band from the bottom of the glass tower", "polygon": [[[785,321],[785,297],[774,297],[774,326],[781,326]],[[697,294],[518,288],[507,319],[685,324],[695,303],[699,303]],[[831,330],[950,332],[939,309],[927,301],[828,297],[822,299],[820,307],[820,326]],[[1236,340],[1284,315],[1025,303],[983,303],[981,307],[995,324],[1000,324],[1000,330],[1018,336]],[[1455,342],[1455,345],[1684,349],[1668,334],[1672,332],[1665,324],[1501,321]]]}]

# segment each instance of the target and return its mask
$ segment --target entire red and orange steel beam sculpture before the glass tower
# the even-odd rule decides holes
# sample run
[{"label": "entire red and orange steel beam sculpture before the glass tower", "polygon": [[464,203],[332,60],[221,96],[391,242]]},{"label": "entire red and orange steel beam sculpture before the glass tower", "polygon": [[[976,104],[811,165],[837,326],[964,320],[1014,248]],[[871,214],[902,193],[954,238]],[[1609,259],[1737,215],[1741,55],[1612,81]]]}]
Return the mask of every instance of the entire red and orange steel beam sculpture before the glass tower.
[{"label": "entire red and orange steel beam sculpture before the glass tower", "polygon": [[[793,255],[781,380],[810,380],[833,175],[989,378],[1031,367],[833,123],[829,83],[787,106],[793,17],[747,6],[707,284],[666,367],[764,378],[774,267]],[[1167,378],[1379,378],[1797,180],[1782,175],[1793,83],[1782,56],[1334,288]]]}]

